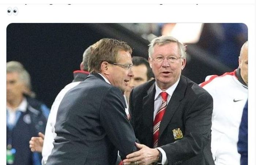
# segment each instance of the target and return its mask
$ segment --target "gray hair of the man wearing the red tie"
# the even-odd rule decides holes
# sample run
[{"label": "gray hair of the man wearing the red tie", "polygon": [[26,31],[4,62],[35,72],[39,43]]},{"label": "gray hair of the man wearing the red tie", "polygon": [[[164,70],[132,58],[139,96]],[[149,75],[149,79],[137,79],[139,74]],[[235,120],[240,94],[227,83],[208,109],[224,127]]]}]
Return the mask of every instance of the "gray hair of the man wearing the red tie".
[{"label": "gray hair of the man wearing the red tie", "polygon": [[172,37],[172,36],[160,36],[157,38],[154,38],[150,44],[148,45],[148,56],[152,57],[153,53],[154,53],[154,46],[157,45],[163,45],[163,44],[167,44],[167,43],[177,43],[178,44],[178,49],[180,51],[180,56],[182,58],[186,58],[187,53],[186,53],[186,45],[184,45],[183,43],[179,42],[176,38]]}]

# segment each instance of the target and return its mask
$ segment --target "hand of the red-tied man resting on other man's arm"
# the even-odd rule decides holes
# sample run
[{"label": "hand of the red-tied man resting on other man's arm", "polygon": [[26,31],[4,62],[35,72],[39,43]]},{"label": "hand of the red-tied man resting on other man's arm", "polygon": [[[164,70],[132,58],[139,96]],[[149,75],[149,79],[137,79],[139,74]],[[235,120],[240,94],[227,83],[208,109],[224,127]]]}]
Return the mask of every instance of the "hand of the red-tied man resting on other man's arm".
[{"label": "hand of the red-tied man resting on other man's arm", "polygon": [[148,165],[157,162],[159,154],[157,149],[152,149],[138,143],[135,143],[135,145],[140,150],[127,155],[126,159],[123,160],[124,165]]}]

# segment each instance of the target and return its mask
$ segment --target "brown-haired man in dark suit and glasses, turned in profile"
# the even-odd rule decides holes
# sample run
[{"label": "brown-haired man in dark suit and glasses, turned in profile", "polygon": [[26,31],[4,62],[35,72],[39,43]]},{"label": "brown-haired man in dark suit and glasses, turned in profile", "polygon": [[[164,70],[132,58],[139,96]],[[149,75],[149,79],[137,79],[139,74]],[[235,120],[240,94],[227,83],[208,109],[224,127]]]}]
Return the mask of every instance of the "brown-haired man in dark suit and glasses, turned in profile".
[{"label": "brown-haired man in dark suit and glasses, turned in profile", "polygon": [[122,91],[132,76],[132,50],[125,42],[99,40],[89,56],[87,78],[65,94],[46,165],[114,165],[137,150]]}]

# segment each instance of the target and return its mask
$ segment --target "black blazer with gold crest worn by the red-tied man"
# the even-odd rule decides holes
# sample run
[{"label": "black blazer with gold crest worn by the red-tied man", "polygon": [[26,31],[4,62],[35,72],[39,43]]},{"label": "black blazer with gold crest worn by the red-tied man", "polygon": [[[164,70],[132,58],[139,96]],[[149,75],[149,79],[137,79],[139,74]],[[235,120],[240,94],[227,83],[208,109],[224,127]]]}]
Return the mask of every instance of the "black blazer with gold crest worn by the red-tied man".
[{"label": "black blazer with gold crest worn by the red-tied man", "polygon": [[[140,85],[130,95],[131,124],[136,138],[153,147],[155,80]],[[214,165],[210,150],[211,95],[181,76],[159,127],[158,146],[166,152],[168,164]],[[183,138],[174,139],[180,128]]]}]

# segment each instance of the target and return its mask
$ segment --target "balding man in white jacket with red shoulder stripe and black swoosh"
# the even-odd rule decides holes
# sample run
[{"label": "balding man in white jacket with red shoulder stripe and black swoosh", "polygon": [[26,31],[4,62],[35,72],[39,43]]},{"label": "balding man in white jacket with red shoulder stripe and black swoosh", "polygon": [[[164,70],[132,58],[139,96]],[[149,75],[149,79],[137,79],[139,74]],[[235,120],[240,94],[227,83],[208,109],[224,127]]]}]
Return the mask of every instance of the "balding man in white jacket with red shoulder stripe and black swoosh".
[{"label": "balding man in white jacket with red shoulder stripe and black swoosh", "polygon": [[238,64],[233,72],[207,76],[200,84],[214,101],[211,152],[215,165],[240,165],[237,142],[242,112],[248,99],[248,41],[241,47]]}]

